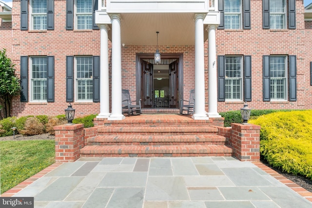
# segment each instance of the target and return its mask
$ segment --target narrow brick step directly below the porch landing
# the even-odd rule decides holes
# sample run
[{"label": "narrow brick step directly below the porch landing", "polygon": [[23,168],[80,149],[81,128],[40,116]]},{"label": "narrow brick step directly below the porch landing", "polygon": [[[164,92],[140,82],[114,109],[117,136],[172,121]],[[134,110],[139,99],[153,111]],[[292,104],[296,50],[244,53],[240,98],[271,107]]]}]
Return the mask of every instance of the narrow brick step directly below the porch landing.
[{"label": "narrow brick step directly below the porch landing", "polygon": [[210,126],[123,126],[123,127],[101,127],[98,128],[99,134],[149,134],[149,135],[168,135],[168,134],[201,134],[216,133],[217,129]]}]

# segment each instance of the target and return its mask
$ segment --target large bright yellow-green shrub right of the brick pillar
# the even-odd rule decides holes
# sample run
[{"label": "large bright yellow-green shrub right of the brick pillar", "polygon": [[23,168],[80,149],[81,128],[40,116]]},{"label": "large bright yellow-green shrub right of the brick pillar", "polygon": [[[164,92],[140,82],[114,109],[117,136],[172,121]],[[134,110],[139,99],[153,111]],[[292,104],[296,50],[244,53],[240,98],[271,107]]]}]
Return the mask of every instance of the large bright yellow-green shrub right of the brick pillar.
[{"label": "large bright yellow-green shrub right of the brick pillar", "polygon": [[276,112],[250,123],[260,125],[260,154],[270,165],[312,179],[312,111]]}]

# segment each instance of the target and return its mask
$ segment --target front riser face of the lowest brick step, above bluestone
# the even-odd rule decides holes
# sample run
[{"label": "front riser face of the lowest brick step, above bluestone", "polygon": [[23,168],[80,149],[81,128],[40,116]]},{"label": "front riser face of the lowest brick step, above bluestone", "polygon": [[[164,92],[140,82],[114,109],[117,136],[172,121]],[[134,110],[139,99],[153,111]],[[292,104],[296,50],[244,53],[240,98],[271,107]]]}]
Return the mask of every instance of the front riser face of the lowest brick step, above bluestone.
[{"label": "front riser face of the lowest brick step, above bluestone", "polygon": [[143,153],[143,154],[80,154],[81,157],[231,157],[232,153]]}]

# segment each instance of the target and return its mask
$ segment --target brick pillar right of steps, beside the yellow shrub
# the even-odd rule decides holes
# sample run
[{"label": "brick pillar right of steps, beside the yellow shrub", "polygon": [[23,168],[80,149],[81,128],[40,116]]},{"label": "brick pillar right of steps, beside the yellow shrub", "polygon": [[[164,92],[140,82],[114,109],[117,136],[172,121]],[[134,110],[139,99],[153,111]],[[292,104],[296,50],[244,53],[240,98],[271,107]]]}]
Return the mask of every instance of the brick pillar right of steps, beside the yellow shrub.
[{"label": "brick pillar right of steps, beside the yellow shrub", "polygon": [[260,160],[260,126],[232,123],[231,146],[233,156],[240,161]]}]

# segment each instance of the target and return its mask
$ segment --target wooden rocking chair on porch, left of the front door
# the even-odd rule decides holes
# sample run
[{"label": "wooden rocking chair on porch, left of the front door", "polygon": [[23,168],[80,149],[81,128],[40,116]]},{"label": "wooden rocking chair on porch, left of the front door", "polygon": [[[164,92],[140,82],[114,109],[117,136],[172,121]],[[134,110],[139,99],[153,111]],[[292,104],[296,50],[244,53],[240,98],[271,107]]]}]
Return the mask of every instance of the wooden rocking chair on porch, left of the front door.
[{"label": "wooden rocking chair on porch, left of the front door", "polygon": [[141,100],[131,101],[129,90],[124,89],[122,89],[122,113],[128,113],[128,115],[139,115],[142,113]]}]

